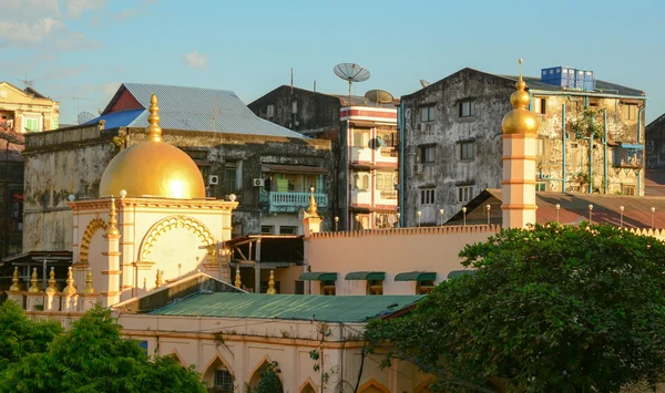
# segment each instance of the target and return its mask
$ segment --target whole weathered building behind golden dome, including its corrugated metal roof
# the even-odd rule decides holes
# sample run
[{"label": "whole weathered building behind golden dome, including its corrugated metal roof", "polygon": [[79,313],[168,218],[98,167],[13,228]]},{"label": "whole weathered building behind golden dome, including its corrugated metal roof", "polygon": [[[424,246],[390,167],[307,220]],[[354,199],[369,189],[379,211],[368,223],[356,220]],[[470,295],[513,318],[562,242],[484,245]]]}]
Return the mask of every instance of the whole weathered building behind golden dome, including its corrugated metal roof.
[{"label": "whole weathered building behind golden dome, including its corrugated metal roof", "polygon": [[28,135],[24,251],[72,249],[69,196],[99,196],[109,162],[143,141],[152,93],[160,96],[164,141],[195,161],[207,196],[239,203],[234,236],[301,234],[298,210],[307,206],[310,187],[326,214],[329,199],[335,199],[328,194],[329,141],[256,117],[233,92],[123,84],[89,124]]}]

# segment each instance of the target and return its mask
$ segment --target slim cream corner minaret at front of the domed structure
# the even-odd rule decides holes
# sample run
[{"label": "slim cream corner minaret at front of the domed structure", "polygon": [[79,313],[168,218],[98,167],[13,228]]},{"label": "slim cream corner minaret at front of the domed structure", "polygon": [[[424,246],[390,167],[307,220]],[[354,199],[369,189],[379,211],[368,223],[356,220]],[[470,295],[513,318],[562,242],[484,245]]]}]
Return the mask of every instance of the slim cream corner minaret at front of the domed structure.
[{"label": "slim cream corner minaret at front of the domed structure", "polygon": [[106,257],[106,269],[102,270],[105,277],[105,289],[100,292],[102,296],[102,306],[109,307],[120,301],[120,230],[117,230],[117,220],[115,219],[115,198],[111,197],[111,208],[109,211],[109,229],[103,235],[106,241],[106,250],[102,252]]}]

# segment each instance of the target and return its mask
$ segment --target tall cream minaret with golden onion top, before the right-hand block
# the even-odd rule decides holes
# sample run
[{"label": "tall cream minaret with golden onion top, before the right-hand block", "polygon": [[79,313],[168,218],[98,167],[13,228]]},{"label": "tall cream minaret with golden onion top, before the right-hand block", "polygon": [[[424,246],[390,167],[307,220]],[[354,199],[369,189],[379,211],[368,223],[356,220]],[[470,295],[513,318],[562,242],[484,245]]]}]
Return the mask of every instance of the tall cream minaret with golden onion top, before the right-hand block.
[{"label": "tall cream minaret with golden onion top, before the right-hand block", "polygon": [[538,121],[529,107],[526,83],[520,77],[510,96],[512,111],[503,116],[503,228],[525,228],[535,224],[535,159]]}]

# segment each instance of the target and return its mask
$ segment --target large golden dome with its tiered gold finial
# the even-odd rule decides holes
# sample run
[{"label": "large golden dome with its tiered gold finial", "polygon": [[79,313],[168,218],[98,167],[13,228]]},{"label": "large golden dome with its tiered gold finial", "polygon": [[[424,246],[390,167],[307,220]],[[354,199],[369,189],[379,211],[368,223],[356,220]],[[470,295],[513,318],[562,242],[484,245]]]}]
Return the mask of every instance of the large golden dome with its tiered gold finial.
[{"label": "large golden dome with its tiered gold finial", "polygon": [[152,95],[146,139],[120,152],[106,166],[100,183],[100,197],[158,196],[177,199],[204,198],[205,186],[198,167],[180,148],[162,142],[157,96]]}]

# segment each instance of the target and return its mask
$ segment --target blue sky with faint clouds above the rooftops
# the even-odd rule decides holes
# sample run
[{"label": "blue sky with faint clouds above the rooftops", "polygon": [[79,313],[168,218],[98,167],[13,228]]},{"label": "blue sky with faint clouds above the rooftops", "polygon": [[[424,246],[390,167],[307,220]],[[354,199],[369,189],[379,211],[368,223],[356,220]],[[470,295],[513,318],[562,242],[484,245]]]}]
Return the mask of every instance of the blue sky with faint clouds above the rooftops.
[{"label": "blue sky with faint clouds above the rooftops", "polygon": [[396,97],[466,66],[524,74],[566,65],[643,90],[665,113],[665,1],[0,0],[0,81],[30,80],[61,124],[98,114],[120,83],[234,91],[245,103],[282,84]]}]

